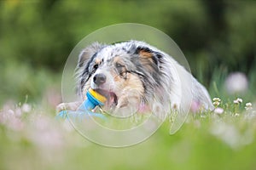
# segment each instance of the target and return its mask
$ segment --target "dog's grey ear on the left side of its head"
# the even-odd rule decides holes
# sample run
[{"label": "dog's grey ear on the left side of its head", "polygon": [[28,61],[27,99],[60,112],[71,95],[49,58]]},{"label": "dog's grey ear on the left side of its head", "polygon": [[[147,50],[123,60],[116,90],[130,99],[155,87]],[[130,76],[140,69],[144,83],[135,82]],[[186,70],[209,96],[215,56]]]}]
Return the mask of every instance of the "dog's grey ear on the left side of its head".
[{"label": "dog's grey ear on the left side of its head", "polygon": [[90,59],[92,56],[94,56],[101,48],[103,48],[104,45],[99,42],[94,42],[87,48],[84,48],[82,52],[79,54],[79,63],[78,67],[84,66],[88,59]]}]

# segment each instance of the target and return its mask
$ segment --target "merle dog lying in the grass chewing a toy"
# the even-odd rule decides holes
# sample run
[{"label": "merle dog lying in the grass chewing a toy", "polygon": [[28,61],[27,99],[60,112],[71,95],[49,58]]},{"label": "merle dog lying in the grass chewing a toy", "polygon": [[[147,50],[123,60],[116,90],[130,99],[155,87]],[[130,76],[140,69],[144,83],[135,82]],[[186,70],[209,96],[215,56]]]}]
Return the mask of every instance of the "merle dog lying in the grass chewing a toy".
[{"label": "merle dog lying in the grass chewing a toy", "polygon": [[58,111],[75,111],[89,88],[107,98],[102,110],[115,116],[213,109],[207,89],[170,55],[146,42],[94,42],[79,54],[76,72],[81,101],[62,103]]}]

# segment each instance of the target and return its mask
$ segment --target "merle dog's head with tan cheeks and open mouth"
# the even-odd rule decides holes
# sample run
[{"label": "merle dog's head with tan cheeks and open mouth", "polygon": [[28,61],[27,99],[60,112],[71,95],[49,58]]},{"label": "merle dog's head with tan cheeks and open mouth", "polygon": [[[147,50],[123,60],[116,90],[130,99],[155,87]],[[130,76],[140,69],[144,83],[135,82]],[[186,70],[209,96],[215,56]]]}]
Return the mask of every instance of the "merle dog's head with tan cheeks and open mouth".
[{"label": "merle dog's head with tan cheeks and open mouth", "polygon": [[93,88],[107,98],[109,109],[139,108],[165,95],[164,63],[164,54],[142,42],[93,43],[79,55],[79,93]]}]

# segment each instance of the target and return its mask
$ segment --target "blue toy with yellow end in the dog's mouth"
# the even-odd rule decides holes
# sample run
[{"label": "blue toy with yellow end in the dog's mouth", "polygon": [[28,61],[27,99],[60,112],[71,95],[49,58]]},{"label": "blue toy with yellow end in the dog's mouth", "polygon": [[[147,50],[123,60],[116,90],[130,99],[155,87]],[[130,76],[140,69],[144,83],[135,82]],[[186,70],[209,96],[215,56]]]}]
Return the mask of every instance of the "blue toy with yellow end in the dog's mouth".
[{"label": "blue toy with yellow end in the dog's mouth", "polygon": [[101,113],[94,113],[93,110],[97,105],[104,105],[107,100],[102,94],[98,94],[95,90],[89,88],[86,93],[87,99],[79,106],[77,111],[60,111],[57,117],[60,118],[88,118],[89,116],[96,116],[105,119],[106,116]]}]

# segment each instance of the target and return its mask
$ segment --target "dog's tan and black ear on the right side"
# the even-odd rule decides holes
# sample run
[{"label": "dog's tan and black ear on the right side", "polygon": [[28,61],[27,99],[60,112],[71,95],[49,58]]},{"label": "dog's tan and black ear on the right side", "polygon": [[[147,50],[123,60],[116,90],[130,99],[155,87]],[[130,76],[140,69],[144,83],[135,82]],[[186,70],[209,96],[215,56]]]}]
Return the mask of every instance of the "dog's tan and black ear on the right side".
[{"label": "dog's tan and black ear on the right side", "polygon": [[141,46],[137,47],[135,54],[138,54],[140,64],[145,66],[148,71],[159,71],[162,54]]}]

